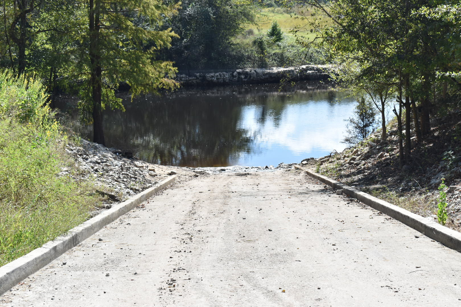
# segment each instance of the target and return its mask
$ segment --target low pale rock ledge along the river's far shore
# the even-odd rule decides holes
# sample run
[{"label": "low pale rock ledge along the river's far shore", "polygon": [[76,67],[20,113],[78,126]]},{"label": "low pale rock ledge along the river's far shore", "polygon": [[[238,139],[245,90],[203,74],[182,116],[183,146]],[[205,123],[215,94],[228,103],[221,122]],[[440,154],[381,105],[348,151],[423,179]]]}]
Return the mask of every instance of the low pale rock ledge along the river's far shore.
[{"label": "low pale rock ledge along the river's far shore", "polygon": [[181,86],[223,85],[243,83],[270,83],[287,78],[290,81],[326,80],[332,69],[328,65],[302,65],[299,67],[247,68],[216,73],[178,74],[175,80]]}]

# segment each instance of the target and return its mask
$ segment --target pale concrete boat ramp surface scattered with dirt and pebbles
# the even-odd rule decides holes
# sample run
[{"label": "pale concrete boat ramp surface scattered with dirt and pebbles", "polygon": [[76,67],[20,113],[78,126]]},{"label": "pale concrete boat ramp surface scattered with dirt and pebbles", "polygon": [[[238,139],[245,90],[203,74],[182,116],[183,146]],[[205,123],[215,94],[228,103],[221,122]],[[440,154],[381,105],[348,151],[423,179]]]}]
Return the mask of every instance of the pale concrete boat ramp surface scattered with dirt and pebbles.
[{"label": "pale concrete boat ramp surface scattered with dirt and pebbles", "polygon": [[26,278],[0,306],[461,306],[460,271],[460,253],[301,171],[201,175]]}]

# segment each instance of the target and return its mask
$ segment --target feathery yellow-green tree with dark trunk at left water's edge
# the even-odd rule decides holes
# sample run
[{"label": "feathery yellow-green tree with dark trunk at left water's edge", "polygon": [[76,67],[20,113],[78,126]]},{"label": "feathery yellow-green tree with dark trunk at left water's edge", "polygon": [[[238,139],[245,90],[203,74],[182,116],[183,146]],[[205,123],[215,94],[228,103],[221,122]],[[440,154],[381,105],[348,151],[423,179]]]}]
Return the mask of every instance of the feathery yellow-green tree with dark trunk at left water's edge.
[{"label": "feathery yellow-green tree with dark trunk at left water's edge", "polygon": [[83,80],[79,85],[82,118],[93,123],[93,141],[104,144],[102,110],[124,110],[122,99],[114,93],[121,82],[130,86],[132,95],[177,87],[171,80],[176,72],[172,62],[155,58],[177,37],[160,26],[178,6],[160,0],[88,0],[80,6],[78,17],[86,27],[81,23],[74,31],[80,54],[74,58],[67,81]]}]

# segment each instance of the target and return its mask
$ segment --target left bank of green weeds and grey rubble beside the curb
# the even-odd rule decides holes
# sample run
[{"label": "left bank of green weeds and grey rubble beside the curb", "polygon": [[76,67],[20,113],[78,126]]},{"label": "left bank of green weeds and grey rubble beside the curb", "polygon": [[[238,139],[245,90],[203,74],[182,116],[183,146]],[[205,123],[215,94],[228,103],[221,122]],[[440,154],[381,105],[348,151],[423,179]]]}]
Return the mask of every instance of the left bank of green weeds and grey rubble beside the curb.
[{"label": "left bank of green weeds and grey rubble beside the curb", "polygon": [[171,174],[198,176],[77,138],[45,91],[33,78],[0,75],[0,266]]}]

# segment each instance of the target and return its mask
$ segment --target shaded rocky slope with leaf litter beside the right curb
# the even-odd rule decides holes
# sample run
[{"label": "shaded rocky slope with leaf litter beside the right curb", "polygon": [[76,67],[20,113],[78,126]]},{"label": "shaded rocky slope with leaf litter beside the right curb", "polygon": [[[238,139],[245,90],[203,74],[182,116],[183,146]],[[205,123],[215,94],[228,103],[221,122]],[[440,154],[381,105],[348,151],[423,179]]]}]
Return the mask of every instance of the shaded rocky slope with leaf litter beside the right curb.
[{"label": "shaded rocky slope with leaf litter beside the right curb", "polygon": [[437,219],[438,187],[445,179],[447,226],[461,227],[461,154],[455,135],[461,112],[431,122],[432,131],[422,144],[412,135],[414,163],[399,166],[396,124],[388,126],[388,138],[378,131],[358,145],[300,165],[355,186],[428,219]]}]

